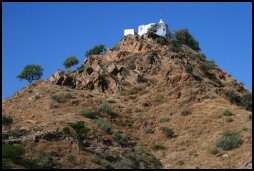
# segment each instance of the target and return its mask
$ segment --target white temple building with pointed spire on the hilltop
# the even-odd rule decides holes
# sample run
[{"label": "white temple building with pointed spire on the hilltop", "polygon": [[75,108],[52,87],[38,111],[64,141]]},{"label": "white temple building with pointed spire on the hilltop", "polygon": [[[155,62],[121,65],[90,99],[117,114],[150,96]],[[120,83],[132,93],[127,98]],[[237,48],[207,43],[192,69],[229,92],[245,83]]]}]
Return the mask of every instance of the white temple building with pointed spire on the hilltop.
[{"label": "white temple building with pointed spire on the hilltop", "polygon": [[127,35],[143,35],[148,32],[148,29],[151,28],[152,25],[158,24],[158,29],[155,34],[166,37],[167,35],[170,35],[170,37],[173,37],[173,33],[169,31],[168,25],[164,23],[162,19],[160,19],[159,23],[150,23],[147,25],[140,25],[138,27],[138,33],[135,32],[134,29],[124,29],[124,36]]}]

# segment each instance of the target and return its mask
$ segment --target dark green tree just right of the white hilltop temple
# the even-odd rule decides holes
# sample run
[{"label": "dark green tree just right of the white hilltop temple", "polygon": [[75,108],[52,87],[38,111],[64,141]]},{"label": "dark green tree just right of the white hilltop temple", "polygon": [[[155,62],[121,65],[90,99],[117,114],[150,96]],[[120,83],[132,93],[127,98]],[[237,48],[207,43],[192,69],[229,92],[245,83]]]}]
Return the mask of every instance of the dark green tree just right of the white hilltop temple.
[{"label": "dark green tree just right of the white hilltop temple", "polygon": [[192,35],[189,33],[188,29],[179,30],[176,32],[176,40],[181,43],[189,46],[195,51],[200,51],[199,43],[196,41]]}]

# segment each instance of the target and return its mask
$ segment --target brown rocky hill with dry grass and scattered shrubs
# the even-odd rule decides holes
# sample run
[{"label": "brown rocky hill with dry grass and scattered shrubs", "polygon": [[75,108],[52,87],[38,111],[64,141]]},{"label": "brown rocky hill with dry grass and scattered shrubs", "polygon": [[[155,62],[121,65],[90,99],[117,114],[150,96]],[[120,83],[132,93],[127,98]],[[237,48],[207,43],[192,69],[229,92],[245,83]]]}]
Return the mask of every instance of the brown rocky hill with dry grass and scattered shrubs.
[{"label": "brown rocky hill with dry grass and scattered shrubs", "polygon": [[4,164],[252,168],[250,96],[185,45],[125,36],[76,71],[57,71],[2,101],[13,118],[2,125],[4,146],[24,149],[20,162]]}]

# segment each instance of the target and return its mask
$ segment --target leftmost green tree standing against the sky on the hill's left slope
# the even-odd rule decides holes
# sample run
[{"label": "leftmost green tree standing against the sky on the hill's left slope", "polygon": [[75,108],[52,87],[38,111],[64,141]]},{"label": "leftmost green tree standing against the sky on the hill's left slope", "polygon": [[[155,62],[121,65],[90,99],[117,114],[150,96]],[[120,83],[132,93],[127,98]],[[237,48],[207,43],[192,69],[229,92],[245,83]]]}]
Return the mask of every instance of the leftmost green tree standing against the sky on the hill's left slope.
[{"label": "leftmost green tree standing against the sky on the hill's left slope", "polygon": [[27,80],[29,83],[31,83],[34,80],[39,80],[42,76],[43,69],[40,65],[27,65],[23,69],[23,71],[17,75],[17,78],[20,80]]}]

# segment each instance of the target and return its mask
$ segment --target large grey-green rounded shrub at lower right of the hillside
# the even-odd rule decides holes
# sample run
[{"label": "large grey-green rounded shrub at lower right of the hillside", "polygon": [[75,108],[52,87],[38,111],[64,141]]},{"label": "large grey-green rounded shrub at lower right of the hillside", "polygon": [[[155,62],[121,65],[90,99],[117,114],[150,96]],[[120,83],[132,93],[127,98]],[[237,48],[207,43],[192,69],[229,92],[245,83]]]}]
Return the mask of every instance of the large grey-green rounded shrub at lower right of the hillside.
[{"label": "large grey-green rounded shrub at lower right of the hillside", "polygon": [[242,140],[239,132],[226,131],[216,141],[216,147],[222,150],[231,150],[239,147],[242,144]]}]

